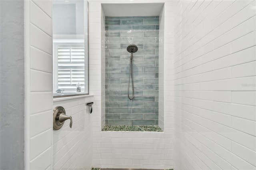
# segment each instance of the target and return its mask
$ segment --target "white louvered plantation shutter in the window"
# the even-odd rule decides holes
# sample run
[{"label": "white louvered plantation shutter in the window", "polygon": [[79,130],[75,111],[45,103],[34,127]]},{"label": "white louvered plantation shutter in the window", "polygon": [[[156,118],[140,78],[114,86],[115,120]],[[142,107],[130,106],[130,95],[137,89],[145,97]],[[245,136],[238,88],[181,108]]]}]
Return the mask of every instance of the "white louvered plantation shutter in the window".
[{"label": "white louvered plantation shutter in the window", "polygon": [[55,90],[76,91],[76,84],[82,85],[84,90],[84,44],[83,43],[55,43]]}]

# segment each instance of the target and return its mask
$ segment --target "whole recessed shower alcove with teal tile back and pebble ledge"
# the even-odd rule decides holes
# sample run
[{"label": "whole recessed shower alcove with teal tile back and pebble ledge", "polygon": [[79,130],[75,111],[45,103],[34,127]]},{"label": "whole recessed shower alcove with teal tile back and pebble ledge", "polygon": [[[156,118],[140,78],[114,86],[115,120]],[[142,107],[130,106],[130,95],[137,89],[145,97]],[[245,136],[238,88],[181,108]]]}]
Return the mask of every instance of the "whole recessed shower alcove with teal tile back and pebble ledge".
[{"label": "whole recessed shower alcove with teal tile back and pebble ledge", "polygon": [[102,4],[101,24],[103,131],[164,130],[164,3]]}]

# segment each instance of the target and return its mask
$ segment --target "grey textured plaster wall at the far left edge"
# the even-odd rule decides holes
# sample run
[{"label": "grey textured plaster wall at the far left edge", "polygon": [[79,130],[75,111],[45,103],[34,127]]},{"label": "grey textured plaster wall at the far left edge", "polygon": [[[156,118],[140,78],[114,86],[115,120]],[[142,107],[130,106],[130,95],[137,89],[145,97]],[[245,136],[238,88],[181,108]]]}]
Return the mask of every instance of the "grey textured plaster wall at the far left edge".
[{"label": "grey textured plaster wall at the far left edge", "polygon": [[0,169],[24,169],[24,2],[0,7]]}]

